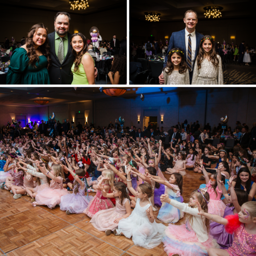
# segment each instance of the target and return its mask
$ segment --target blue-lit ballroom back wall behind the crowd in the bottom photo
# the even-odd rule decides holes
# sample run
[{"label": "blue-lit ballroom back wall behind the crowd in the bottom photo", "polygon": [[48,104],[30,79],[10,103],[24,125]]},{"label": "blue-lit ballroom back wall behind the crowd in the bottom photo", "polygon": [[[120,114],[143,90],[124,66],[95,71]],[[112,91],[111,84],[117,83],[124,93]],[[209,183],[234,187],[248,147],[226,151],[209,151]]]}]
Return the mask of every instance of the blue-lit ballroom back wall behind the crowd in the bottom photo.
[{"label": "blue-lit ballroom back wall behind the crowd in the bottom photo", "polygon": [[[17,119],[21,114],[32,121],[48,120],[53,112],[60,122],[62,119],[72,121],[74,118],[77,124],[78,117],[84,118],[84,121],[87,117],[88,124],[93,123],[96,126],[106,126],[110,121],[115,124],[115,119],[122,116],[125,119],[124,127],[135,125],[137,128],[143,128],[144,116],[156,112],[158,125],[165,130],[185,119],[189,124],[199,120],[201,127],[204,123],[210,123],[213,128],[219,124],[221,117],[228,115],[228,125],[231,128],[235,127],[237,120],[252,128],[252,123],[256,122],[256,88],[210,88],[151,95],[145,93],[144,101],[138,95],[128,99],[109,97],[59,106],[1,106],[0,126],[11,122],[12,118]],[[137,124],[138,116],[140,124]],[[163,124],[160,124],[161,116]]]}]

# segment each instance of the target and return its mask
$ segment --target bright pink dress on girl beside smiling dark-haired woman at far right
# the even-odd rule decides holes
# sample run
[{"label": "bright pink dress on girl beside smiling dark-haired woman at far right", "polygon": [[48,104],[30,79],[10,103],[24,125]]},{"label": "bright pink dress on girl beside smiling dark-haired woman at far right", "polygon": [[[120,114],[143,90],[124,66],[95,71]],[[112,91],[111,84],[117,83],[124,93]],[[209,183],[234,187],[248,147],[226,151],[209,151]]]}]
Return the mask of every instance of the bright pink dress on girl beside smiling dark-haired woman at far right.
[{"label": "bright pink dress on girl beside smiling dark-haired woman at far right", "polygon": [[207,192],[210,195],[210,201],[208,203],[208,213],[216,214],[221,217],[223,217],[226,205],[221,200],[222,191],[218,189],[218,186],[216,187],[216,193],[214,192],[214,189],[212,188],[211,181],[209,181],[206,184]]}]

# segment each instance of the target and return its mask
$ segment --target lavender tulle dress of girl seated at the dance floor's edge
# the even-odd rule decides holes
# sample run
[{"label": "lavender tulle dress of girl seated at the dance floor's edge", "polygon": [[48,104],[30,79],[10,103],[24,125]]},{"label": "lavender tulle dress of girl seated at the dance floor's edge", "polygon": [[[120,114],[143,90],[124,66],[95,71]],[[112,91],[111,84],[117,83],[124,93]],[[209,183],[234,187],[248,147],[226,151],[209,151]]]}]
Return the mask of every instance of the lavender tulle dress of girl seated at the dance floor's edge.
[{"label": "lavender tulle dress of girl seated at the dance floor's edge", "polygon": [[61,197],[60,209],[62,211],[69,210],[70,213],[83,213],[84,210],[88,207],[89,202],[93,199],[93,196],[85,195],[86,185],[84,189],[81,189],[81,186],[78,187],[78,192],[75,194],[73,189],[72,194],[66,194]]}]

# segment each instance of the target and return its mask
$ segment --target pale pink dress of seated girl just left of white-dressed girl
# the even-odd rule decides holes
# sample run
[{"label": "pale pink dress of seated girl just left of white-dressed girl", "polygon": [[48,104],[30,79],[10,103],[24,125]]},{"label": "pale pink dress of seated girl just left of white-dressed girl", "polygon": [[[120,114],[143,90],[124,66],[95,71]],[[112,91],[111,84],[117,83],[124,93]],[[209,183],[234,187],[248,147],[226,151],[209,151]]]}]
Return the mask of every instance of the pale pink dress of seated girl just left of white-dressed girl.
[{"label": "pale pink dress of seated girl just left of white-dressed girl", "polygon": [[100,231],[112,230],[118,227],[118,223],[114,223],[115,219],[121,218],[126,214],[125,203],[127,198],[120,204],[119,198],[115,199],[115,207],[97,212],[91,219],[93,226]]}]

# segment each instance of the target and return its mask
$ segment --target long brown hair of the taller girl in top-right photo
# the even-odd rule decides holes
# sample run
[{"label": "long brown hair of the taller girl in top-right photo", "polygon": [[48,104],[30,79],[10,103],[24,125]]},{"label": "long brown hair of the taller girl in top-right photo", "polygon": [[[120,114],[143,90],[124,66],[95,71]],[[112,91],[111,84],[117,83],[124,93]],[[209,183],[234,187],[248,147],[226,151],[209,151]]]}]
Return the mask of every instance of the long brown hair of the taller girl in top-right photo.
[{"label": "long brown hair of the taller girl in top-right photo", "polygon": [[201,68],[201,63],[203,62],[203,59],[204,59],[204,50],[203,50],[203,42],[205,40],[210,40],[211,43],[212,43],[212,50],[210,51],[209,53],[209,57],[210,57],[210,61],[212,62],[212,64],[215,66],[215,67],[218,67],[219,65],[219,60],[217,58],[217,53],[216,53],[216,50],[215,50],[215,41],[214,39],[212,38],[212,36],[210,35],[205,35],[202,37],[201,39],[201,42],[200,42],[200,47],[199,47],[199,53],[198,53],[198,56],[197,56],[197,66],[198,66],[198,69]]}]

